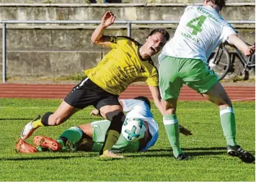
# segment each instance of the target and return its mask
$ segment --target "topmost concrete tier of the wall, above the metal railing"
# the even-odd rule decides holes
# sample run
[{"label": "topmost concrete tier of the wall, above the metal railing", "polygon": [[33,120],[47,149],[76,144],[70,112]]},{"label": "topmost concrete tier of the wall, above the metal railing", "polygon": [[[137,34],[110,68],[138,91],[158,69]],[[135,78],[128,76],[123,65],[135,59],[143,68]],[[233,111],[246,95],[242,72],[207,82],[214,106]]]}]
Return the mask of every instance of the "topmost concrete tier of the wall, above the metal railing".
[{"label": "topmost concrete tier of the wall, above the metal railing", "polygon": [[[187,5],[191,4],[0,4],[0,19],[100,20],[110,10],[117,20],[178,21]],[[255,3],[228,4],[221,16],[254,21]]]}]

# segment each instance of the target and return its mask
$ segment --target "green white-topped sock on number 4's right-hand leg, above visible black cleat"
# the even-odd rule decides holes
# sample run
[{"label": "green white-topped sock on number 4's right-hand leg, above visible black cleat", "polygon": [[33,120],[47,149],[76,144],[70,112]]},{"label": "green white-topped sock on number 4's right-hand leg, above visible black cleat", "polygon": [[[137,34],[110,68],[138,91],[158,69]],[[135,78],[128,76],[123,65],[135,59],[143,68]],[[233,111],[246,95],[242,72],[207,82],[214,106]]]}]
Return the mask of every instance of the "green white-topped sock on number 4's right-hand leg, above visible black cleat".
[{"label": "green white-topped sock on number 4's right-hand leg, above visible black cleat", "polygon": [[236,142],[236,121],[234,111],[231,107],[225,107],[220,111],[221,127],[226,137],[226,144],[235,146]]}]

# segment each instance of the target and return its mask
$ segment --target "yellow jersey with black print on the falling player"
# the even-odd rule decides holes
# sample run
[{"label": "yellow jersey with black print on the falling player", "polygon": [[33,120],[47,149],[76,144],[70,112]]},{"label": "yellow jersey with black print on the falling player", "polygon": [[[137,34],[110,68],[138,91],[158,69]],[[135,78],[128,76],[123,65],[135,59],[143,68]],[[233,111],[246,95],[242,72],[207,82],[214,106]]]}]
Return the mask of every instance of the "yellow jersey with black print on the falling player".
[{"label": "yellow jersey with black print on the falling player", "polygon": [[110,37],[110,50],[100,63],[84,73],[97,86],[119,95],[133,82],[144,81],[158,86],[158,72],[151,58],[143,60],[138,50],[141,45],[130,37]]}]

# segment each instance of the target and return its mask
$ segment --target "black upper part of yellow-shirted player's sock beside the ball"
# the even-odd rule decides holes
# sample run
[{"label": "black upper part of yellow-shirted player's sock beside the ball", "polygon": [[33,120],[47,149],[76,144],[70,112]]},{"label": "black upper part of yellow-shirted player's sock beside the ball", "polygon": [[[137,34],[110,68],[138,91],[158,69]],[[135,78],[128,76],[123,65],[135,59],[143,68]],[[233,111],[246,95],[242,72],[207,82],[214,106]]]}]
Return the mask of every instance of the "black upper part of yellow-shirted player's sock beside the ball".
[{"label": "black upper part of yellow-shirted player's sock beside the ball", "polygon": [[106,114],[106,117],[111,122],[109,129],[121,132],[123,122],[125,121],[125,115],[123,114],[123,112],[110,112]]}]

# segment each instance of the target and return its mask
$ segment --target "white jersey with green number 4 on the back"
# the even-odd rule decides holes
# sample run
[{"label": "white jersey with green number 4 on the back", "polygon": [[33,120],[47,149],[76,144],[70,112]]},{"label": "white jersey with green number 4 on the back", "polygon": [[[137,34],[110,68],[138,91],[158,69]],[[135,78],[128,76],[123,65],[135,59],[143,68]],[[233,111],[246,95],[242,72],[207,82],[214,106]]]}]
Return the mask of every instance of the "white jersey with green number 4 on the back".
[{"label": "white jersey with green number 4 on the back", "polygon": [[175,58],[193,58],[206,62],[213,50],[229,35],[236,34],[211,6],[187,6],[175,36],[164,45],[159,63],[165,55]]}]

